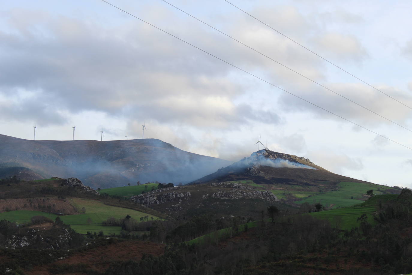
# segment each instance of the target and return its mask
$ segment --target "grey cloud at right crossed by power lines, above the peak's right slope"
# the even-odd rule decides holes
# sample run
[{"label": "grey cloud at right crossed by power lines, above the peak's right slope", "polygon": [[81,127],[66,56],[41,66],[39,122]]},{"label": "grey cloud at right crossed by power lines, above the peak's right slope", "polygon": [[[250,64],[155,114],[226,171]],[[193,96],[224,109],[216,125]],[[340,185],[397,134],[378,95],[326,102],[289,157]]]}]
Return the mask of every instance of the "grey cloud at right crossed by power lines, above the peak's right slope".
[{"label": "grey cloud at right crossed by power lines, above the peak's right slope", "polygon": [[[405,122],[411,115],[410,110],[407,108],[399,108],[399,103],[365,85],[351,83],[325,83],[323,85],[357,102],[358,104],[361,104],[366,108],[389,118],[390,120],[394,120],[398,123],[400,122],[400,124]],[[412,104],[412,98],[407,96],[405,92],[393,87],[384,87],[379,85],[376,87],[394,98],[405,102],[407,105]],[[326,110],[330,110],[337,115],[352,120],[353,122],[359,123],[363,126],[391,123],[384,118],[381,118],[378,115],[375,115],[368,110],[365,110],[364,108],[357,106],[356,104],[351,103],[317,85],[313,85],[307,90],[296,92],[296,94],[302,96],[308,101],[311,101],[312,103],[317,104],[318,106],[321,106],[322,108],[325,108]],[[332,119],[343,122],[342,119],[337,118],[335,115],[331,115],[316,106],[288,94],[283,94],[280,102],[283,103],[282,106],[286,111],[309,111],[314,113],[318,118]]]}]

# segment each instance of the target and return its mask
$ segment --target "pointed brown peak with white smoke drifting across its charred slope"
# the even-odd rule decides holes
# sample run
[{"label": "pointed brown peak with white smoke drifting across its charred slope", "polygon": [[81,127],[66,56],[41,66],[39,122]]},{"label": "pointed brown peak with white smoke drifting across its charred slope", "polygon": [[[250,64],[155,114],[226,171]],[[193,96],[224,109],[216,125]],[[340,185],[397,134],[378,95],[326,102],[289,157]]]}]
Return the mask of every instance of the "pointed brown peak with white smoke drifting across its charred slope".
[{"label": "pointed brown peak with white smoke drifting across its charred slope", "polygon": [[330,186],[341,181],[367,183],[329,172],[304,157],[265,149],[190,184],[223,181],[253,181],[257,184],[295,186]]}]

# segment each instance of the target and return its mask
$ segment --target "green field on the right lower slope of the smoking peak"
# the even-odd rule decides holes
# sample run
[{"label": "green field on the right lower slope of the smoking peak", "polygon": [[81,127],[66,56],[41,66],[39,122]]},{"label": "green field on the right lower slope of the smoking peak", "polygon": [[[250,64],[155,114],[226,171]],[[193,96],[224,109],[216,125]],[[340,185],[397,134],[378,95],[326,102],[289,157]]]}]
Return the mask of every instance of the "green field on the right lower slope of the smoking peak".
[{"label": "green field on the right lower slope of the smoking peak", "polygon": [[[311,197],[305,197],[304,199],[295,203],[302,204],[304,202],[309,202],[310,204],[315,204],[320,202],[324,207],[348,207],[362,203],[363,200],[367,198],[365,197],[367,190],[373,189],[375,195],[383,194],[383,192],[378,191],[377,188],[379,188],[380,190],[386,190],[390,189],[391,187],[373,183],[365,184],[357,182],[341,182],[337,185],[336,191],[314,195]],[[353,200],[351,199],[351,197],[353,197]]]}]

